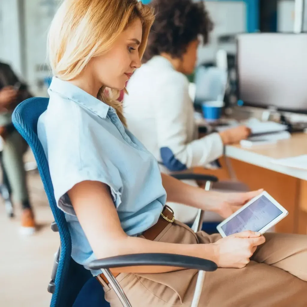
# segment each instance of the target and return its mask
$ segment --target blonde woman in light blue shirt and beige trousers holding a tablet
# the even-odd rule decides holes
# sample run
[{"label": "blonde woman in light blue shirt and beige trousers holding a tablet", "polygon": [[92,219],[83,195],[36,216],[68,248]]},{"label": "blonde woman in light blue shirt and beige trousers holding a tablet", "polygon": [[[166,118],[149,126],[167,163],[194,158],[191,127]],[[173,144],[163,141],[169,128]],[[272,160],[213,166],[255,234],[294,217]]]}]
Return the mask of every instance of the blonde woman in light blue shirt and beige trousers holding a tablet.
[{"label": "blonde woman in light blue shirt and beige trousers holding a tablet", "polygon": [[[52,21],[54,77],[37,128],[58,207],[66,213],[72,258],[86,267],[95,258],[134,253],[197,256],[220,267],[206,275],[200,306],[303,306],[307,236],[243,232],[221,239],[194,234],[176,220],[161,228],[161,213],[172,217],[163,208],[166,199],[226,217],[260,191],[206,192],[161,175],[125,128],[118,104],[103,94],[108,87],[116,97],[140,67],[153,18],[136,0],[64,0]],[[112,272],[134,307],[189,305],[197,277],[195,270],[174,267]],[[100,277],[107,301],[120,306]]]}]

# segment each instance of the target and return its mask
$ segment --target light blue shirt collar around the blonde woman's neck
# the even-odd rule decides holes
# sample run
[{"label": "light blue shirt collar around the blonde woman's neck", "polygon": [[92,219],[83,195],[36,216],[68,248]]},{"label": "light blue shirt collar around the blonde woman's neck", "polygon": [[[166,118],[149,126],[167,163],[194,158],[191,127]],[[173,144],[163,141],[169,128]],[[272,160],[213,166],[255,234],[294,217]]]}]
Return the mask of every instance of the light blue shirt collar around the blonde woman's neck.
[{"label": "light blue shirt collar around the blonde woman's neck", "polygon": [[92,111],[99,117],[105,119],[109,110],[109,106],[101,100],[90,95],[80,87],[71,84],[70,82],[63,81],[57,77],[53,77],[49,91],[56,92],[68,99],[75,101],[81,106]]}]

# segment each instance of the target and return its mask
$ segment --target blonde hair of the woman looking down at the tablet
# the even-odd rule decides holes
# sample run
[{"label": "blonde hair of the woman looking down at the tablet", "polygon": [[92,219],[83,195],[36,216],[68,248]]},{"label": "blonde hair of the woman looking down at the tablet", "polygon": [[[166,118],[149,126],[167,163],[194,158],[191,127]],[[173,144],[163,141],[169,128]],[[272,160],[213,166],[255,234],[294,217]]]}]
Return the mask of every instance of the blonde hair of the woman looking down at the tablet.
[{"label": "blonde hair of the woman looking down at the tablet", "polygon": [[[116,38],[136,18],[142,22],[140,59],[154,20],[153,10],[137,0],[64,0],[57,10],[48,35],[52,73],[62,80],[78,76],[89,60],[107,52]],[[103,86],[97,98],[114,107],[125,124],[119,91]],[[107,95],[106,92],[109,94]]]}]

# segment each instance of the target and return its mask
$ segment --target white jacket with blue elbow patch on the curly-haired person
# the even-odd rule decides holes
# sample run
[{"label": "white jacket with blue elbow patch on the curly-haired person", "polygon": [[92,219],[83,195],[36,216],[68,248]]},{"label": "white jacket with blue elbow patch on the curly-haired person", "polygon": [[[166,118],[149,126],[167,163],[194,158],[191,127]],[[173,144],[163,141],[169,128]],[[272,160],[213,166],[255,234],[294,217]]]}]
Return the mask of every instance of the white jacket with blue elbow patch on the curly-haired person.
[{"label": "white jacket with blue elbow patch on the curly-haired person", "polygon": [[[189,82],[162,56],[154,56],[128,81],[124,114],[128,129],[153,153],[164,173],[205,166],[223,154],[217,133],[198,139]],[[195,181],[188,181],[196,185]],[[196,209],[172,204],[176,218],[189,222]]]}]

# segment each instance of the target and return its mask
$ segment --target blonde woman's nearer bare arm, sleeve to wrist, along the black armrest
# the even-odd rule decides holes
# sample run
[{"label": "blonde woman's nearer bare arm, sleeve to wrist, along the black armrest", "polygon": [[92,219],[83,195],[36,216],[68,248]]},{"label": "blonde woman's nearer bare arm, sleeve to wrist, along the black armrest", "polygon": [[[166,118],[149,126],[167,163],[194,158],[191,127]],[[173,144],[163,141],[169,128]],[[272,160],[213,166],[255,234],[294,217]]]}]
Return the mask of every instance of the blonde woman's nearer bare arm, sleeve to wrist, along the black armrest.
[{"label": "blonde woman's nearer bare arm, sleeve to wrist, along the black armrest", "polygon": [[[138,253],[170,253],[214,261],[212,244],[163,243],[126,235],[122,230],[109,189],[103,183],[83,181],[75,185],[68,195],[98,259]],[[178,269],[166,266],[142,266],[116,268],[112,269],[112,272],[163,273]]]}]

